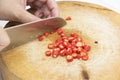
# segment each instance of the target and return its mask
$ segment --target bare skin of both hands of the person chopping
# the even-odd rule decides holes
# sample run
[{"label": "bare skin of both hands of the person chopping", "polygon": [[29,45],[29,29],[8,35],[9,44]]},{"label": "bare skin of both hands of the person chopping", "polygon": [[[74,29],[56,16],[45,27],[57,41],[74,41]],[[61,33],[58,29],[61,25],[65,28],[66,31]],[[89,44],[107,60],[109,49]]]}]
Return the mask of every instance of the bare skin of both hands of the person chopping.
[{"label": "bare skin of both hands of the person chopping", "polygon": [[[39,17],[42,16],[45,18],[59,16],[55,0],[0,0],[0,5],[1,20],[26,23],[40,20]],[[27,5],[34,10],[34,15],[26,11]],[[4,29],[0,29],[0,51],[9,43],[9,36]]]}]

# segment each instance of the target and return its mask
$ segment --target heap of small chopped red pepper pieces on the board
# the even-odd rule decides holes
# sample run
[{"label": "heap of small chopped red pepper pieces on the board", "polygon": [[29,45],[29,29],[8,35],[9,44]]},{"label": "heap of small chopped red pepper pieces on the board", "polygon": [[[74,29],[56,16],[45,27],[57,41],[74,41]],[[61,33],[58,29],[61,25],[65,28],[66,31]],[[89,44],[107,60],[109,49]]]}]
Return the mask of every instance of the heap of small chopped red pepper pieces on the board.
[{"label": "heap of small chopped red pepper pieces on the board", "polygon": [[[69,18],[69,17],[68,17]],[[48,44],[48,49],[52,51],[46,51],[46,56],[53,58],[60,56],[66,56],[67,62],[72,62],[73,59],[88,60],[88,51],[91,46],[86,45],[82,38],[77,33],[71,33],[69,36],[64,33],[62,29],[57,29],[56,33],[60,36],[55,43]],[[49,33],[45,33],[44,36],[48,36]],[[39,41],[43,40],[43,36],[38,37]]]}]

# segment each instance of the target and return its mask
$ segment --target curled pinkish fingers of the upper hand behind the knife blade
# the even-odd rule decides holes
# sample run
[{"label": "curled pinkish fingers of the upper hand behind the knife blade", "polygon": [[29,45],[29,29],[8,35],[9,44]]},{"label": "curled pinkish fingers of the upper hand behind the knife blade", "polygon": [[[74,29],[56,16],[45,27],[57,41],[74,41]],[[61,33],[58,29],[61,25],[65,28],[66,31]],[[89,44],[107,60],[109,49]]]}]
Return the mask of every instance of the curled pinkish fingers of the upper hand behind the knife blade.
[{"label": "curled pinkish fingers of the upper hand behind the knife blade", "polygon": [[57,17],[59,11],[55,0],[35,0],[29,3],[32,8],[36,9],[36,15],[44,14],[45,17]]}]

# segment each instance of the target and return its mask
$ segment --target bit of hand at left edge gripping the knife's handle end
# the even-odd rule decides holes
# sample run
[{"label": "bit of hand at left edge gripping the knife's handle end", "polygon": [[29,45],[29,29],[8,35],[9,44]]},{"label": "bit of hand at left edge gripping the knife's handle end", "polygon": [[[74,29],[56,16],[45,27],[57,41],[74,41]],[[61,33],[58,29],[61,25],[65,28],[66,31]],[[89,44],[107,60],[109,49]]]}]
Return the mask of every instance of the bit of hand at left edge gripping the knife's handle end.
[{"label": "bit of hand at left edge gripping the knife's handle end", "polygon": [[4,29],[0,29],[0,51],[7,47],[10,43],[10,39]]}]

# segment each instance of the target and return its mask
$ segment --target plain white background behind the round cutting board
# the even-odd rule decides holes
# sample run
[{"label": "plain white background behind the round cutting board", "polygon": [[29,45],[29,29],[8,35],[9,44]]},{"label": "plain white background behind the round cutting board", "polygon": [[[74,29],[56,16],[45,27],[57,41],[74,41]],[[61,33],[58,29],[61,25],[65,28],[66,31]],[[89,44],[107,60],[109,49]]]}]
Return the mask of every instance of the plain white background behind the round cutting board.
[{"label": "plain white background behind the round cutting board", "polygon": [[[57,0],[57,1],[63,1],[63,0]],[[65,1],[71,1],[71,0],[65,0]],[[72,1],[83,1],[83,2],[95,3],[120,13],[120,0],[72,0]],[[0,27],[4,27],[6,23],[7,21],[0,21]],[[0,80],[2,79],[0,78]]]}]

